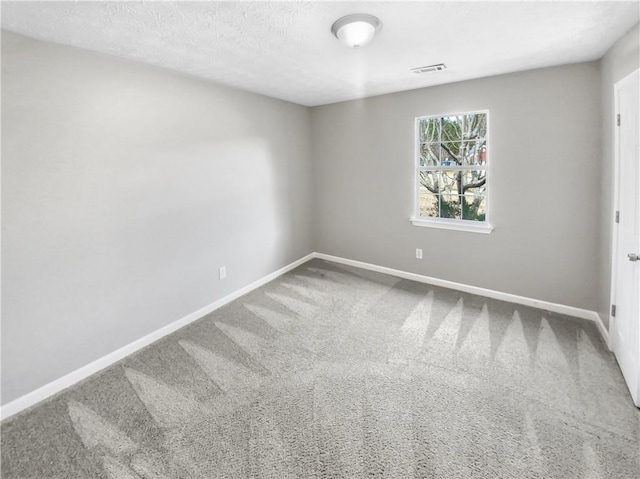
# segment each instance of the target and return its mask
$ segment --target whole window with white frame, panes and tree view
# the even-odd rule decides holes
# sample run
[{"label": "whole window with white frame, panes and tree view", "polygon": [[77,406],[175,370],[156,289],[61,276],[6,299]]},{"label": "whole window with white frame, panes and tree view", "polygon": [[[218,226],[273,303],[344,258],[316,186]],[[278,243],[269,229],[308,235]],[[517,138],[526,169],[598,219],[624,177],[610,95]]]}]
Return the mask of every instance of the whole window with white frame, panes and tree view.
[{"label": "whole window with white frame, panes and tree view", "polygon": [[489,112],[416,118],[414,225],[490,233]]}]

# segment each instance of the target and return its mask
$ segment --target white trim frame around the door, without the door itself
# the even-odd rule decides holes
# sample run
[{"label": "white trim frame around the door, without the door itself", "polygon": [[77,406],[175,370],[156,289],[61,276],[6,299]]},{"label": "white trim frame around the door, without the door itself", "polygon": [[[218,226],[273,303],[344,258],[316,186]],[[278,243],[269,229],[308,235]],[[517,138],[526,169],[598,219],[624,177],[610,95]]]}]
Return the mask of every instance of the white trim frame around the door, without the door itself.
[{"label": "white trim frame around the door, without the door itself", "polygon": [[[620,90],[626,86],[627,83],[631,82],[634,75],[640,76],[640,68],[632,71],[624,78],[618,80],[613,86],[613,147],[614,147],[614,157],[613,157],[613,210],[611,216],[611,295],[609,298],[609,349],[612,351],[615,349],[615,341],[617,335],[615,334],[615,323],[616,318],[611,315],[612,306],[615,304],[616,293],[617,293],[617,255],[618,255],[618,228],[617,223],[615,221],[616,211],[619,211],[620,206],[620,128],[617,125],[617,117],[620,113],[618,110],[618,100],[620,96]],[[640,338],[638,338],[640,341]],[[637,371],[637,374],[640,376],[640,370]],[[640,383],[639,386],[640,388]],[[639,391],[640,392],[640,391]]]}]

